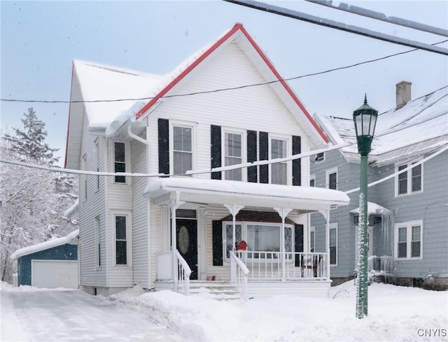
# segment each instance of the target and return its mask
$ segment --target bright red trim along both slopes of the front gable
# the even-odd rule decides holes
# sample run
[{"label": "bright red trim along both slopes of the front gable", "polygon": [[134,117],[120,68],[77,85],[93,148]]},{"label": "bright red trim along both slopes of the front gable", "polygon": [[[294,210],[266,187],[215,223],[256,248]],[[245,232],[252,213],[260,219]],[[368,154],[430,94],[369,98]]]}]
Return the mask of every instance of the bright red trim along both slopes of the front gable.
[{"label": "bright red trim along both slopes of the front gable", "polygon": [[299,106],[299,108],[302,110],[302,112],[304,113],[304,115],[307,117],[307,119],[309,120],[309,122],[311,122],[311,124],[313,125],[313,127],[316,129],[316,131],[318,132],[318,134],[321,136],[321,138],[323,138],[323,141],[325,141],[325,143],[328,143],[329,140],[327,138],[327,136],[325,136],[325,134],[323,133],[323,131],[321,130],[320,127],[318,127],[318,124],[316,124],[316,122],[313,120],[313,118],[311,117],[311,115],[309,115],[307,109],[303,106],[302,102],[300,102],[300,100],[295,96],[293,90],[290,89],[290,87],[288,86],[288,83],[286,83],[285,80],[283,80],[283,78],[281,78],[280,74],[276,71],[276,69],[274,68],[274,65],[272,65],[272,63],[269,61],[269,59],[266,57],[266,55],[262,52],[262,50],[260,49],[260,47],[257,45],[257,43],[255,43],[255,41],[253,41],[252,37],[248,34],[248,32],[246,31],[246,29],[244,29],[242,24],[235,24],[234,27],[232,27],[232,29],[230,31],[228,31],[227,34],[225,34],[223,37],[221,37],[218,41],[216,41],[216,43],[214,43],[214,45],[211,46],[211,48],[209,48],[206,52],[204,52],[198,59],[195,60],[195,62],[193,62],[192,64],[190,64],[190,66],[188,66],[187,69],[185,69],[179,76],[177,76],[176,78],[174,78],[174,80],[172,80],[171,83],[169,83],[169,85],[167,85],[167,87],[165,87],[161,92],[159,92],[153,99],[151,99],[151,101],[148,102],[148,104],[146,104],[143,108],[141,108],[140,111],[137,112],[137,114],[135,115],[136,119],[139,119],[139,117],[141,117],[142,115],[144,115],[144,113],[146,111],[148,111],[149,108],[151,108],[151,106],[153,106],[153,104],[155,104],[155,102],[157,102],[161,97],[165,96],[165,94],[167,94],[167,92],[169,92],[169,90],[172,90],[172,88],[179,83],[185,76],[188,75],[188,73],[190,73],[190,71],[192,71],[193,69],[195,69],[195,67],[200,64],[204,59],[206,59],[207,57],[209,57],[209,55],[211,55],[212,52],[214,52],[219,46],[221,46],[225,41],[228,40],[228,38],[230,38],[230,36],[232,36],[233,34],[235,34],[236,31],[241,30],[241,32],[244,34],[244,36],[246,36],[246,38],[248,39],[248,41],[251,43],[251,45],[253,46],[253,48],[255,48],[255,50],[258,52],[258,55],[260,55],[260,57],[262,58],[262,60],[267,64],[267,66],[269,67],[269,69],[272,71],[272,73],[274,73],[275,77],[279,80],[279,82],[281,83],[281,85],[283,85],[283,87],[285,88],[286,92],[288,92],[288,94],[290,95],[290,97],[293,98],[293,100],[295,101],[295,103],[297,104],[297,106]]}]

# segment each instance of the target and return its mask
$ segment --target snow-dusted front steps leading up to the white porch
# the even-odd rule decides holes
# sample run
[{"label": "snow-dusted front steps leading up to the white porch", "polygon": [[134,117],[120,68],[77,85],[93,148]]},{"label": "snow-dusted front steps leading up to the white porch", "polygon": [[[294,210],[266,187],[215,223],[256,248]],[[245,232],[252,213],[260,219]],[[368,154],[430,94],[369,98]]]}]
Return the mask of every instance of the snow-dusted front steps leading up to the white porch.
[{"label": "snow-dusted front steps leading up to the white porch", "polygon": [[213,281],[190,281],[190,294],[203,295],[206,294],[210,298],[218,301],[228,301],[241,299],[241,292],[235,284],[228,281],[213,280]]}]

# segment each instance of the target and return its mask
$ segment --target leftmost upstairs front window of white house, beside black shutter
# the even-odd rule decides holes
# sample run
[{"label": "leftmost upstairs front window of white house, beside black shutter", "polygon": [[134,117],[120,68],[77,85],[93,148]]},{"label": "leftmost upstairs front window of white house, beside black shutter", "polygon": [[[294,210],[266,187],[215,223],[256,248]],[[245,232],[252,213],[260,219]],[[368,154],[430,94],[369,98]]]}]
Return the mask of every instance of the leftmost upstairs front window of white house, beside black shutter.
[{"label": "leftmost upstairs front window of white house, beside black shutter", "polygon": [[193,170],[193,129],[191,127],[173,127],[173,173],[186,175]]}]

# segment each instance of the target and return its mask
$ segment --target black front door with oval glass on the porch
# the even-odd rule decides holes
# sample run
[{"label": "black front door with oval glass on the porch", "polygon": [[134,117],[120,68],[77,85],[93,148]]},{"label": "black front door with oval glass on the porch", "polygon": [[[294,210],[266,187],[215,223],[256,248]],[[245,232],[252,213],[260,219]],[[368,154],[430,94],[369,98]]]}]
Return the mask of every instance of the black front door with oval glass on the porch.
[{"label": "black front door with oval glass on the porch", "polygon": [[191,269],[191,280],[197,280],[197,220],[176,219],[176,247]]}]

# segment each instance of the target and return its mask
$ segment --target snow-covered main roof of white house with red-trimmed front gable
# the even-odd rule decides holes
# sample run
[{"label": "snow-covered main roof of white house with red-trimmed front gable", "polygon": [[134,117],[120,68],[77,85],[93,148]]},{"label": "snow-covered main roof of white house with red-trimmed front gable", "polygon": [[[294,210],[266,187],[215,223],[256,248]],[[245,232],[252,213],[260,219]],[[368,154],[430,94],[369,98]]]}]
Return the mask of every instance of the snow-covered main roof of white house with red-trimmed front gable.
[{"label": "snow-covered main roof of white house with red-trimmed front gable", "polygon": [[[140,73],[74,61],[71,82],[73,103],[69,111],[66,167],[79,167],[80,136],[83,129],[83,118],[79,116],[84,113],[78,108],[80,102],[85,106],[87,129],[92,133],[112,138],[120,134],[120,129],[126,124],[143,120],[161,101],[167,101],[167,97],[175,95],[183,83],[188,82],[191,76],[207,64],[207,60],[230,43],[237,43],[251,60],[260,75],[269,83],[269,87],[307,132],[311,146],[318,148],[328,143],[327,136],[265,53],[242,24],[235,24],[230,31],[226,31],[216,41],[195,52],[167,75]],[[117,99],[120,101],[113,101]]]}]

